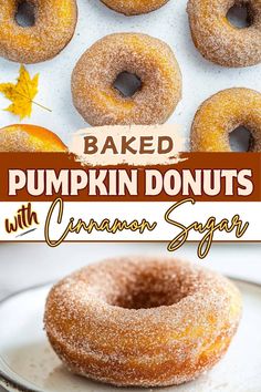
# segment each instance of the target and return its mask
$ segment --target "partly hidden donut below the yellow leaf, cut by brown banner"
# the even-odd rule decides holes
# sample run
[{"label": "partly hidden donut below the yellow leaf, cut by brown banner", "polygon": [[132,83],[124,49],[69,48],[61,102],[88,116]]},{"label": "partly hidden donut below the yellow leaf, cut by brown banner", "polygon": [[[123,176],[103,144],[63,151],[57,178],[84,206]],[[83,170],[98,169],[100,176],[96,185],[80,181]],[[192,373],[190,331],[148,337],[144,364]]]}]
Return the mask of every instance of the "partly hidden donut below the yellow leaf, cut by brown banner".
[{"label": "partly hidden donut below the yellow leaf, cut by brown banner", "polygon": [[65,152],[53,132],[36,125],[17,124],[0,130],[0,152]]}]

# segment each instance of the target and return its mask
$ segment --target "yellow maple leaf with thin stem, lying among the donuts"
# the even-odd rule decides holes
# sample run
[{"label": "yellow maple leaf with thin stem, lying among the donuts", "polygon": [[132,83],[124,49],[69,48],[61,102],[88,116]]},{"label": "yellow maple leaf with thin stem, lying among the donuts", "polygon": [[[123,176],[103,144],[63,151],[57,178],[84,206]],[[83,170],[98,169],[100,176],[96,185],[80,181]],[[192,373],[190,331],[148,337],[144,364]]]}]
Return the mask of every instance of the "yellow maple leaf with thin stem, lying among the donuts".
[{"label": "yellow maple leaf with thin stem, lying among the donuts", "polygon": [[[30,117],[32,113],[32,104],[50,111],[48,107],[34,102],[38,94],[39,74],[32,79],[24,65],[21,65],[17,84],[1,83],[0,93],[4,94],[6,99],[11,101],[6,111],[20,116],[20,120]],[[50,111],[51,112],[51,111]]]}]

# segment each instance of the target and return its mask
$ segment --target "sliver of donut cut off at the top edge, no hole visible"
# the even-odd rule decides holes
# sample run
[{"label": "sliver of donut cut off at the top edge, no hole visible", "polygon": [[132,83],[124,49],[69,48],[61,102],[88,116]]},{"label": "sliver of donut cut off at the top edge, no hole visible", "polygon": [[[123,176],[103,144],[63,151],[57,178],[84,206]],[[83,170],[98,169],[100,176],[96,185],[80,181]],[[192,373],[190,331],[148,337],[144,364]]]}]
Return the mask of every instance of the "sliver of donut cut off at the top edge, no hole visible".
[{"label": "sliver of donut cut off at the top edge, no hole visible", "polygon": [[102,0],[104,4],[114,11],[125,16],[138,16],[157,10],[168,2],[168,0]]}]

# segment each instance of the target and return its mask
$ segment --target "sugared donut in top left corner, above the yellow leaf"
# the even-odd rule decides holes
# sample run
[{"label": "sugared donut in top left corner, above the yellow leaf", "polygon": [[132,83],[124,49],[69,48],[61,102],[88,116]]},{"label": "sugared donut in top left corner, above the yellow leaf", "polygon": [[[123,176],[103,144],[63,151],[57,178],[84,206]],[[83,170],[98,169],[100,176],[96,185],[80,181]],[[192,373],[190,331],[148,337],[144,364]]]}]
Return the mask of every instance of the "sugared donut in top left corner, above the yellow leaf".
[{"label": "sugared donut in top left corner, above the yellow leaf", "polygon": [[59,54],[71,41],[77,20],[75,0],[27,0],[35,22],[22,27],[17,20],[22,0],[0,0],[0,55],[19,63],[38,63]]}]

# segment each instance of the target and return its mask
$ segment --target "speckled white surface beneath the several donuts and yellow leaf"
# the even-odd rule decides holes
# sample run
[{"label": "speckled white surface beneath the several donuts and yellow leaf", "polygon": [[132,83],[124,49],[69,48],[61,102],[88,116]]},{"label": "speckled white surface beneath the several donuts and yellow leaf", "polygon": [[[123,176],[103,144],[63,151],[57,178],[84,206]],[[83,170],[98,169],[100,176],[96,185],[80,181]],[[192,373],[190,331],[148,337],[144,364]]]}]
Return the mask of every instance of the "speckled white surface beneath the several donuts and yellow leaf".
[{"label": "speckled white surface beneath the several donuts and yellow leaf", "polygon": [[[184,76],[184,97],[169,122],[181,124],[185,136],[189,135],[196,110],[213,93],[233,86],[261,90],[260,65],[225,69],[202,59],[191,41],[186,0],[170,0],[156,12],[133,18],[111,11],[98,0],[79,0],[77,3],[79,23],[67,48],[51,61],[28,66],[31,74],[40,72],[40,93],[35,101],[52,109],[52,113],[34,106],[32,117],[23,122],[51,128],[65,143],[70,133],[86,126],[71,99],[71,73],[75,62],[97,39],[113,32],[143,32],[169,43]],[[19,64],[0,59],[0,82],[14,80],[18,71]],[[1,96],[0,109],[7,105],[8,101]],[[17,122],[13,115],[0,112],[0,126]]]}]

